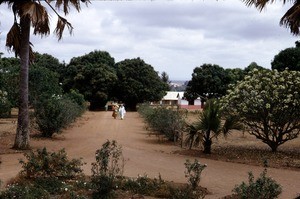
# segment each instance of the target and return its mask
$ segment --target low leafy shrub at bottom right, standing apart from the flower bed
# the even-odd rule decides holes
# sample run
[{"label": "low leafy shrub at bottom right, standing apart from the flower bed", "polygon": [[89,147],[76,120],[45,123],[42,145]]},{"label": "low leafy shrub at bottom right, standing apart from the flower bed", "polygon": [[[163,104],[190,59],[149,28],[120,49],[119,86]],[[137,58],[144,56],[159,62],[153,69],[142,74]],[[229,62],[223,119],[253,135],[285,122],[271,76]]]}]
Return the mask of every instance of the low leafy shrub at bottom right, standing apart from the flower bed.
[{"label": "low leafy shrub at bottom right, standing apart from the flower bed", "polygon": [[237,198],[274,199],[281,194],[281,186],[274,179],[267,177],[267,169],[264,169],[256,180],[254,180],[252,172],[249,172],[248,175],[248,184],[242,182],[232,190]]}]

